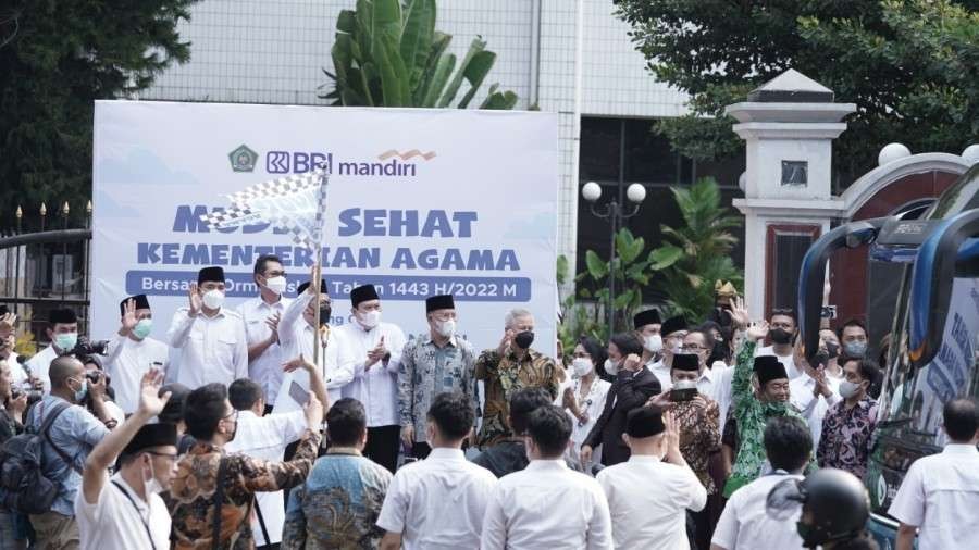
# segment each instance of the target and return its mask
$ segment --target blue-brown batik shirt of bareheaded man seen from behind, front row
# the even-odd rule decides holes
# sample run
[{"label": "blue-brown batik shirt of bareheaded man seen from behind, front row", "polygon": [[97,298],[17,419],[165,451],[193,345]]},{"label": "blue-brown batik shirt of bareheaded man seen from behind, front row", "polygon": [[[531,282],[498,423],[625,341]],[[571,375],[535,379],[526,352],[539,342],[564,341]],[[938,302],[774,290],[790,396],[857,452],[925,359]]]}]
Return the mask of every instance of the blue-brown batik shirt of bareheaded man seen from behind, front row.
[{"label": "blue-brown batik shirt of bareheaded man seen from behind, front row", "polygon": [[331,449],[289,495],[282,550],[377,548],[384,536],[377,516],[391,478],[352,449]]}]

